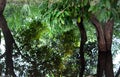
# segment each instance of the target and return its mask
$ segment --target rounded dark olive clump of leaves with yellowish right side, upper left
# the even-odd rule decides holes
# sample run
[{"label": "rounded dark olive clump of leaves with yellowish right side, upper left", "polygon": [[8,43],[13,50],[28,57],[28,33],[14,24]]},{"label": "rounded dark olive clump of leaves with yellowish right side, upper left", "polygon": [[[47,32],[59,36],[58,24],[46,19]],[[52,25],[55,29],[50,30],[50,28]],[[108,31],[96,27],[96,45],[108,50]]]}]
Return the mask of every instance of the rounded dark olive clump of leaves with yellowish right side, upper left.
[{"label": "rounded dark olive clump of leaves with yellowish right side, upper left", "polygon": [[32,40],[37,40],[40,38],[40,36],[42,36],[45,31],[47,29],[45,28],[45,26],[43,26],[43,24],[41,23],[41,21],[32,21],[32,23],[30,24],[30,26],[28,27],[28,29],[22,30],[21,35],[23,36],[23,39],[25,39],[24,42],[30,42]]}]

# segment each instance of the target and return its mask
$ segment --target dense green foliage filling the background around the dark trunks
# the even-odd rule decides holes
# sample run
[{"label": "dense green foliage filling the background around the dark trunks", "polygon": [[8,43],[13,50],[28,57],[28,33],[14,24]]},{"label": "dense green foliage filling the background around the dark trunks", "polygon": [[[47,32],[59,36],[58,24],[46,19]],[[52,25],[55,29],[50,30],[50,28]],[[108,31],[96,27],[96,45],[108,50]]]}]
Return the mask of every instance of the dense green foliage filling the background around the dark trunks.
[{"label": "dense green foliage filling the background around the dark trunks", "polygon": [[[17,45],[13,46],[12,53],[15,74],[17,77],[81,76],[80,47],[83,44],[83,75],[96,74],[99,40],[96,28],[92,24],[94,21],[90,21],[91,15],[95,14],[103,28],[109,19],[114,20],[114,58],[120,49],[119,9],[119,0],[8,0],[4,16]],[[81,22],[87,35],[82,44],[81,29],[78,25]],[[1,35],[2,42],[4,39]],[[5,75],[6,51],[0,51],[0,73]],[[116,69],[118,70],[118,67]],[[11,75],[13,74],[8,73],[8,76]]]}]

